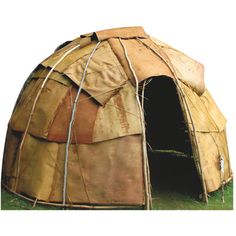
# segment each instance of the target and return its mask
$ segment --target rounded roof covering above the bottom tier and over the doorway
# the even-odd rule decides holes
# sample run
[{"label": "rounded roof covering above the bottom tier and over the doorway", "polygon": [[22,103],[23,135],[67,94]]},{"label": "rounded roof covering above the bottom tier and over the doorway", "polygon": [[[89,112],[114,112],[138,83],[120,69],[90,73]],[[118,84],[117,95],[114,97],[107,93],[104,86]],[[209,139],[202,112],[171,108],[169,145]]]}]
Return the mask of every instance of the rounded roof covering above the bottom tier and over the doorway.
[{"label": "rounded roof covering above the bottom tier and over the doorway", "polygon": [[[78,44],[80,47],[75,48]],[[24,132],[30,117],[27,132],[50,141],[66,142],[73,101],[96,45],[76,110],[77,134],[72,137],[72,143],[92,143],[142,133],[135,80],[127,56],[139,82],[165,75],[181,80],[198,94],[205,90],[203,66],[150,37],[142,27],[103,30],[81,35],[40,63],[20,96],[10,127]],[[36,94],[52,68],[31,116]]]}]

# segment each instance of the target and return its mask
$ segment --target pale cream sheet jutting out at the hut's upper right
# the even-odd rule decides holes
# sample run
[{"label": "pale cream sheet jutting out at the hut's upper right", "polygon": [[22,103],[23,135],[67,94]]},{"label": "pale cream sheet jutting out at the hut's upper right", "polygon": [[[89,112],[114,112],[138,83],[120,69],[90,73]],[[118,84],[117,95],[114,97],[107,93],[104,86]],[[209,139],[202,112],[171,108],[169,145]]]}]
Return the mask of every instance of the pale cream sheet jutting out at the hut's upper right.
[{"label": "pale cream sheet jutting out at the hut's upper right", "polygon": [[154,38],[151,40],[142,39],[142,42],[158,53],[162,51],[166,54],[177,73],[177,77],[188,84],[198,95],[204,93],[204,66],[201,63]]}]

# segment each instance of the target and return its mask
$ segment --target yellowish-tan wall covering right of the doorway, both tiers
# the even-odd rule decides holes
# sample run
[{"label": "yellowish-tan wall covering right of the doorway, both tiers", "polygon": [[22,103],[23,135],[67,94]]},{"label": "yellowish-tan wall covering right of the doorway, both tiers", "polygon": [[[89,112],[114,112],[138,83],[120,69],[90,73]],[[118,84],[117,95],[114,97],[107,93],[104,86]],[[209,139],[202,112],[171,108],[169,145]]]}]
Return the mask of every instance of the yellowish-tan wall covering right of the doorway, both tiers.
[{"label": "yellowish-tan wall covering right of the doorway, both tiers", "polygon": [[[208,90],[198,96],[191,88],[179,82],[191,113],[187,112],[191,135],[196,136],[201,169],[207,192],[217,190],[221,184],[220,155],[224,158],[224,180],[232,177],[226,138],[226,119]],[[193,121],[193,125],[192,125]],[[194,127],[194,128],[193,128]]]}]

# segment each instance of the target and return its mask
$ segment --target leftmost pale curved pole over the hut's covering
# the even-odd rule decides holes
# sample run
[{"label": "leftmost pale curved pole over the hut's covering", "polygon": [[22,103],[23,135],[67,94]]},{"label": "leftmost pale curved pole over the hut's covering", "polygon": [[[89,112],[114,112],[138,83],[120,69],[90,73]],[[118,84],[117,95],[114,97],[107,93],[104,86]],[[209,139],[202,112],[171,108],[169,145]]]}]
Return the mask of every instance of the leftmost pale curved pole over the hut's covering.
[{"label": "leftmost pale curved pole over the hut's covering", "polygon": [[30,123],[31,123],[31,119],[32,119],[32,116],[33,116],[33,113],[34,113],[34,110],[35,110],[35,107],[36,107],[36,104],[39,100],[39,97],[40,97],[40,94],[43,90],[43,88],[45,87],[50,75],[52,74],[52,72],[55,70],[55,68],[57,67],[57,65],[67,56],[69,55],[71,52],[73,52],[74,50],[76,50],[77,48],[80,47],[80,44],[77,44],[76,46],[72,47],[71,49],[69,49],[68,51],[66,51],[60,58],[58,61],[55,62],[55,64],[51,67],[50,71],[48,72],[47,76],[45,77],[43,83],[41,84],[39,90],[38,90],[38,93],[34,99],[34,102],[33,102],[33,105],[32,105],[32,108],[31,108],[31,111],[30,111],[30,115],[29,115],[29,119],[28,119],[28,122],[27,122],[27,125],[26,125],[26,128],[25,128],[25,132],[24,132],[24,135],[22,137],[22,140],[21,140],[21,143],[20,143],[20,146],[19,146],[19,153],[18,153],[18,159],[17,159],[17,164],[16,164],[16,182],[15,182],[15,191],[16,191],[16,188],[17,188],[17,183],[18,183],[18,178],[19,178],[19,172],[20,172],[20,159],[21,159],[21,151],[22,151],[22,147],[23,147],[23,144],[24,144],[24,141],[25,141],[25,137],[28,133],[28,130],[29,130],[29,126],[30,126]]}]

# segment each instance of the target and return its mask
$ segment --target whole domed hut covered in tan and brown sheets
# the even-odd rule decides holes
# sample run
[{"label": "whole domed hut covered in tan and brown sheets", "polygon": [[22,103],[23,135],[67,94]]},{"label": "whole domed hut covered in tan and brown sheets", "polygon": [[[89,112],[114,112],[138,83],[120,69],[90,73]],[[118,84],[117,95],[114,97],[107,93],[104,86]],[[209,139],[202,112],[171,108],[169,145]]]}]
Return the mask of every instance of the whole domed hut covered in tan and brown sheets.
[{"label": "whole domed hut covered in tan and brown sheets", "polygon": [[[142,27],[66,42],[23,86],[9,121],[2,185],[49,205],[150,209],[160,170],[171,179],[187,173],[188,181],[196,172],[207,201],[232,171],[226,119],[203,72]],[[160,156],[176,161],[157,163]]]}]

